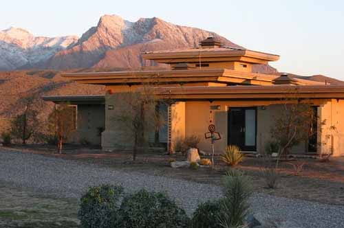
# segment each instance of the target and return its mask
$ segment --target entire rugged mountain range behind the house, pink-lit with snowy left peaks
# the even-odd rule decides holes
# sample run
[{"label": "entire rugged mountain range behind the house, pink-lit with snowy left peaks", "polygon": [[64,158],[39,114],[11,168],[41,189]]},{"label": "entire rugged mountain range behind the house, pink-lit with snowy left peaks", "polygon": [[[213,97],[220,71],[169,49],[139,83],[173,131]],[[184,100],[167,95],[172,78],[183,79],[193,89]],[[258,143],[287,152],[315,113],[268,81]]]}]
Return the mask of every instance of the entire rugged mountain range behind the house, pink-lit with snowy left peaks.
[{"label": "entire rugged mountain range behind the house, pink-lit with snowy left peaks", "polygon": [[[80,38],[35,37],[25,30],[10,28],[0,33],[0,70],[138,69],[156,65],[142,60],[141,52],[195,47],[208,36],[223,45],[241,47],[214,32],[174,25],[156,17],[130,22],[120,16],[104,15]],[[253,71],[277,72],[268,65],[255,66]]]}]

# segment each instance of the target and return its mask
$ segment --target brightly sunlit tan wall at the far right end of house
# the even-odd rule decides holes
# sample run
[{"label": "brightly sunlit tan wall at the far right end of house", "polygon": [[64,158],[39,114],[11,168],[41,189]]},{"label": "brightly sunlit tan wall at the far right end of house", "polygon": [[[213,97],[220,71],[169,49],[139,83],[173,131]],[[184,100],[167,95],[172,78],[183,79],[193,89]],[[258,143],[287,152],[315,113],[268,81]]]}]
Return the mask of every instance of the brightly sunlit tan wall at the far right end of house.
[{"label": "brightly sunlit tan wall at the far right end of house", "polygon": [[332,153],[333,156],[344,156],[344,100],[332,99],[319,107],[321,123],[318,129],[319,152]]}]

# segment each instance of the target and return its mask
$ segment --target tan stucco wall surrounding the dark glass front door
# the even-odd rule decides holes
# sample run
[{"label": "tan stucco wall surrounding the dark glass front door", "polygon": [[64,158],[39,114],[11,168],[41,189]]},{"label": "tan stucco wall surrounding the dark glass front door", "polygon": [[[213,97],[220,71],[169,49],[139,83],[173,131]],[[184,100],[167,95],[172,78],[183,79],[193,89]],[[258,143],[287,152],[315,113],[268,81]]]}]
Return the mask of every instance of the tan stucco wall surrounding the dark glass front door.
[{"label": "tan stucco wall surrounding the dark glass front door", "polygon": [[[274,104],[276,103],[276,104]],[[212,106],[217,106],[217,110],[212,110]],[[221,101],[221,102],[186,102],[185,113],[185,136],[196,135],[200,137],[200,150],[211,152],[210,139],[204,138],[204,133],[208,132],[208,125],[215,124],[216,131],[222,139],[216,141],[214,149],[216,153],[221,153],[226,149],[228,143],[228,108],[257,106],[257,152],[264,153],[266,144],[271,140],[270,128],[274,124],[274,119],[281,113],[281,104],[278,102],[250,102],[250,101]],[[265,110],[262,109],[264,106]],[[305,152],[306,144],[301,143],[292,148],[293,153]]]}]

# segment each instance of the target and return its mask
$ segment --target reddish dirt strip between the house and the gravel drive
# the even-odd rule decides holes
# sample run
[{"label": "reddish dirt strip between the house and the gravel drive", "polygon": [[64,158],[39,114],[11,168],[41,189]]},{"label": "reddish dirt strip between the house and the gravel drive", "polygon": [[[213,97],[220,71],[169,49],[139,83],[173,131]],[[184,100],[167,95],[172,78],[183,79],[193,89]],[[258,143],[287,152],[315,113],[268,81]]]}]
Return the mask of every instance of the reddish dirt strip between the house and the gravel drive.
[{"label": "reddish dirt strip between the house and the gravel drive", "polygon": [[[169,167],[169,159],[184,161],[185,155],[164,155],[162,152],[149,152],[138,155],[137,161],[131,161],[131,152],[102,152],[97,148],[80,148],[80,146],[67,146],[65,154],[55,154],[52,146],[14,146],[13,150],[34,152],[45,156],[73,159],[83,163],[92,163],[99,166],[107,166],[114,170],[127,172],[144,172],[158,176],[170,176],[177,179],[186,179],[200,183],[221,184],[222,176],[228,170],[219,157],[215,159],[215,170],[200,168],[173,169]],[[208,157],[204,157],[208,158]],[[301,173],[296,174],[290,163],[305,162]],[[297,159],[281,163],[279,169],[281,178],[277,189],[268,189],[261,175],[261,168],[266,166],[262,158],[246,157],[236,168],[244,170],[250,179],[255,192],[263,192],[286,198],[301,198],[307,201],[344,205],[344,158],[331,158],[328,162],[320,162],[316,159]]]}]

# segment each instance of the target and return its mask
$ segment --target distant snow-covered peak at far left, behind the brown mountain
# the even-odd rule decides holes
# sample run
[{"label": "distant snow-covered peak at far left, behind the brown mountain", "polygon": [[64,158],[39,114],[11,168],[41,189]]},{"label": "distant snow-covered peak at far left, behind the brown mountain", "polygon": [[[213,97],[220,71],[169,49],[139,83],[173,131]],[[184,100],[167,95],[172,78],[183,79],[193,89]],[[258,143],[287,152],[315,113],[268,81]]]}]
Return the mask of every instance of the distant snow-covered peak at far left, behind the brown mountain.
[{"label": "distant snow-covered peak at far left, behind the brown mountain", "polygon": [[30,68],[38,62],[48,60],[76,41],[76,36],[34,36],[21,28],[10,27],[0,31],[0,69]]}]

